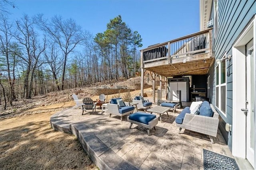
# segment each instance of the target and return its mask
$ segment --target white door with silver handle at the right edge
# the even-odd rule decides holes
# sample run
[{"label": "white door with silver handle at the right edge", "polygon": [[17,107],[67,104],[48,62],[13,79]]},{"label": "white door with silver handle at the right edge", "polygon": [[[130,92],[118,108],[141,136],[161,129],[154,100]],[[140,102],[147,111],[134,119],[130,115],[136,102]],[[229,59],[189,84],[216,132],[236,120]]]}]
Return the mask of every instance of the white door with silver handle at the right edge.
[{"label": "white door with silver handle at the right edge", "polygon": [[255,79],[254,79],[254,64],[255,64],[255,53],[253,49],[253,41],[251,40],[246,45],[246,158],[250,162],[250,164],[255,168],[254,165],[254,105],[255,102],[255,94],[254,87]]}]

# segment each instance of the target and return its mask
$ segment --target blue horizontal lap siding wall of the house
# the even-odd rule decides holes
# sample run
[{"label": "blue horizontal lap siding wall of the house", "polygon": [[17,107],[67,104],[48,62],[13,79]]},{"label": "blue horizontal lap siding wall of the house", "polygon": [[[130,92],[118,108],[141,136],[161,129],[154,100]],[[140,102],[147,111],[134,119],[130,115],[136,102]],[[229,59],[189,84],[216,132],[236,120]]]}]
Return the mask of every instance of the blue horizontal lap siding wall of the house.
[{"label": "blue horizontal lap siding wall of the house", "polygon": [[[256,1],[255,0],[219,0],[218,1],[218,30],[216,35],[215,28],[212,30],[212,51],[215,58],[220,59],[226,53],[226,56],[232,55],[232,44],[238,38],[246,24],[250,21],[252,16],[256,14]],[[214,19],[214,5],[212,2],[212,12],[210,18]],[[209,71],[212,104],[215,106],[215,67]],[[218,109],[216,111],[220,114],[220,130],[232,150],[232,132],[226,132],[225,124],[232,125],[232,59],[226,63],[226,115],[223,115]],[[244,101],[241,101],[244,102]]]}]

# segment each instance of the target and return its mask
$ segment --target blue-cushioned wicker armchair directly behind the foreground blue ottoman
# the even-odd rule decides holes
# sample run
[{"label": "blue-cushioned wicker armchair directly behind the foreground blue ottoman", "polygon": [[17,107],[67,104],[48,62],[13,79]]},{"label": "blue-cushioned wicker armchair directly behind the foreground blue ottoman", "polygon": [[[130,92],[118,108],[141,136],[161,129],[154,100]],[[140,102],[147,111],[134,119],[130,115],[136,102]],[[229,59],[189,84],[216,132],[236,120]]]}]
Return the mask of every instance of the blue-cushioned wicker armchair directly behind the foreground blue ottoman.
[{"label": "blue-cushioned wicker armchair directly behind the foreground blue ottoman", "polygon": [[117,104],[116,100],[118,99],[122,98],[113,98],[110,100],[110,103],[107,104],[107,113],[110,114],[109,117],[111,117],[112,114],[120,116],[122,121],[123,116],[133,113],[134,107],[130,106],[129,102],[124,102],[125,106],[121,107]]}]

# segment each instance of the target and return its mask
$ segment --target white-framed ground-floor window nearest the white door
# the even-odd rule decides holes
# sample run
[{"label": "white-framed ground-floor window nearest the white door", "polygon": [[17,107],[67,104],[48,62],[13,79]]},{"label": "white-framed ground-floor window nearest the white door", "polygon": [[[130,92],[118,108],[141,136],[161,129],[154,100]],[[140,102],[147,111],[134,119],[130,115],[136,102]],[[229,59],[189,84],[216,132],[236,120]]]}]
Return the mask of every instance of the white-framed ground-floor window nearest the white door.
[{"label": "white-framed ground-floor window nearest the white door", "polygon": [[[226,57],[226,54],[223,58]],[[215,68],[216,103],[215,106],[226,115],[226,60],[224,59]]]}]

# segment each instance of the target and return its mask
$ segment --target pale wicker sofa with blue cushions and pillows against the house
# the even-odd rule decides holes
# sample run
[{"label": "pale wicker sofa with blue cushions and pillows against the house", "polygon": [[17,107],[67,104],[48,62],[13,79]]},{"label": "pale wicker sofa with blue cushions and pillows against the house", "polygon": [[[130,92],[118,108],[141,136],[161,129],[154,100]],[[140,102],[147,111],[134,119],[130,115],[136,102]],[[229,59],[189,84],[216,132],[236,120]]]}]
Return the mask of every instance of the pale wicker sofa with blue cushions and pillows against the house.
[{"label": "pale wicker sofa with blue cushions and pillows against the house", "polygon": [[[211,115],[206,114],[206,112]],[[206,115],[205,115],[206,114]],[[176,126],[180,127],[179,133],[182,128],[207,134],[213,143],[212,136],[216,137],[219,125],[219,114],[208,101],[204,101],[199,109],[199,115],[190,114],[190,107],[186,107],[175,119]]]}]

